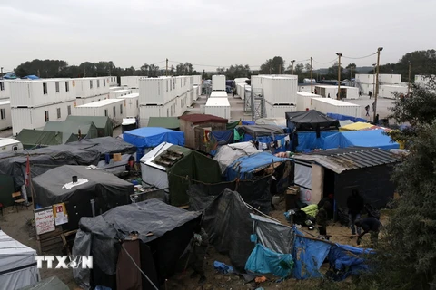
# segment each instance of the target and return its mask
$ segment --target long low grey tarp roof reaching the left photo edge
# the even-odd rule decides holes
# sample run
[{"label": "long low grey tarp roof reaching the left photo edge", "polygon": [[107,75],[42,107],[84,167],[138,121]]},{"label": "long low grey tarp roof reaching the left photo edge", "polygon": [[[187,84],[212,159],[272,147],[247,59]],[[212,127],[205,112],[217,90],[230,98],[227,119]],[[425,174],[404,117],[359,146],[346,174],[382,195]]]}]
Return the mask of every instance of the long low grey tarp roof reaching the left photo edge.
[{"label": "long low grey tarp roof reaching the left photo edge", "polygon": [[35,178],[62,165],[97,165],[100,152],[85,146],[68,144],[49,146],[37,150],[19,150],[0,154],[0,174],[13,177],[15,189],[25,184],[25,165],[30,156],[30,173]]}]

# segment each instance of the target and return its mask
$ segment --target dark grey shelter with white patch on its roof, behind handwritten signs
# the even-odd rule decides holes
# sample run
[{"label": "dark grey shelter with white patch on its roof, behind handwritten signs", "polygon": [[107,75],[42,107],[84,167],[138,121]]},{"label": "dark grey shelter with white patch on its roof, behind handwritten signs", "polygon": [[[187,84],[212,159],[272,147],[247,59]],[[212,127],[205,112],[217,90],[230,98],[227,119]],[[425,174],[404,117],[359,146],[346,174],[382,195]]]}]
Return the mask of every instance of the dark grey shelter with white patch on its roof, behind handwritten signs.
[{"label": "dark grey shelter with white patch on its roof, behind handwritten signs", "polygon": [[[73,177],[77,179],[75,182]],[[128,204],[130,195],[134,194],[132,183],[84,166],[64,165],[51,169],[33,179],[32,183],[36,205],[44,208],[65,203],[68,223],[62,226],[64,230],[76,229],[82,217],[92,217],[93,213],[98,215]]]}]

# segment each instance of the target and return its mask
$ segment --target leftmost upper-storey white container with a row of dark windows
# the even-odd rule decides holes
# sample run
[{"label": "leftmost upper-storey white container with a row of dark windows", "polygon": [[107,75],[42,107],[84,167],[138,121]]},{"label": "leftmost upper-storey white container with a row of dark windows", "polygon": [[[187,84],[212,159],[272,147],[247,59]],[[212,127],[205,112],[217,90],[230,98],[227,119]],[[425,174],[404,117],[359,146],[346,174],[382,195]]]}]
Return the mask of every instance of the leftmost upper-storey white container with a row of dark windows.
[{"label": "leftmost upper-storey white container with a row of dark windows", "polygon": [[39,107],[75,100],[74,80],[46,79],[9,82],[11,107]]}]

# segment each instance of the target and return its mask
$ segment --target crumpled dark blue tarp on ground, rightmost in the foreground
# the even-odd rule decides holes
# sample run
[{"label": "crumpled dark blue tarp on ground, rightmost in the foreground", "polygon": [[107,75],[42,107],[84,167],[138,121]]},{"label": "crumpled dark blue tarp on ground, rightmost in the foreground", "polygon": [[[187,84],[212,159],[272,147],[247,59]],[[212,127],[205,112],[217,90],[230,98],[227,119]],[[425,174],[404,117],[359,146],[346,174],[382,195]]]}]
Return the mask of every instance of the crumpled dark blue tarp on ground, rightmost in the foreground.
[{"label": "crumpled dark blue tarp on ground, rightmost in the foreground", "polygon": [[374,253],[371,248],[352,247],[335,244],[332,246],[328,259],[332,268],[336,270],[335,280],[341,281],[349,275],[357,275],[361,271],[367,271],[368,265],[364,263],[362,256]]}]

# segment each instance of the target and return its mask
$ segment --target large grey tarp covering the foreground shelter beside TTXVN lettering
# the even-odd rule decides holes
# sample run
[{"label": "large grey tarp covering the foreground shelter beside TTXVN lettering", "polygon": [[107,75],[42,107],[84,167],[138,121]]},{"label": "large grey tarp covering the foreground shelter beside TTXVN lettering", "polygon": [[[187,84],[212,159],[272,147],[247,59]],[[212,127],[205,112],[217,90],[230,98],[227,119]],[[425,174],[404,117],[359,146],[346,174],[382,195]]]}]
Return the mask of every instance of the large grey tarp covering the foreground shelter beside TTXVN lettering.
[{"label": "large grey tarp covering the foreground shelter beside TTXVN lettering", "polygon": [[[81,218],[80,229],[74,241],[74,255],[93,255],[94,283],[108,285],[108,280],[116,273],[116,263],[120,251],[120,240],[130,239],[133,232],[154,252],[154,263],[159,278],[173,275],[176,263],[193,237],[193,229],[200,223],[201,213],[175,208],[157,199],[113,208],[95,218]],[[85,233],[85,235],[84,235]],[[152,234],[152,235],[149,235]],[[89,243],[91,242],[91,249]],[[74,279],[79,285],[86,271],[74,271]],[[107,277],[104,280],[104,277]],[[144,282],[144,281],[143,281]],[[114,288],[114,285],[112,285]],[[147,288],[148,289],[148,288]]]}]

